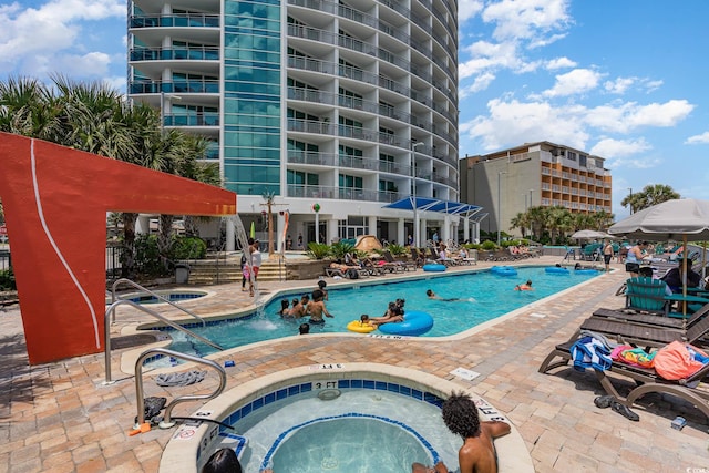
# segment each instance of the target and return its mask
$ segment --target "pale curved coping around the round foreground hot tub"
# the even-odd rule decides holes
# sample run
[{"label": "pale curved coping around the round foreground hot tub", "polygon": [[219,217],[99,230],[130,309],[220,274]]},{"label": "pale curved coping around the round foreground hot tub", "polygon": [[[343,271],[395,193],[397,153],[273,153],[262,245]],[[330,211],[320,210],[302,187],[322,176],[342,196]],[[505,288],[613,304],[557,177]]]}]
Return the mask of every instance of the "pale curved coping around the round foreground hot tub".
[{"label": "pale curved coping around the round foreground hot tub", "polygon": [[[325,368],[323,368],[325,367]],[[376,381],[403,383],[412,389],[431,392],[445,399],[453,392],[465,392],[483,407],[480,413],[485,420],[503,419],[510,423],[510,434],[495,440],[499,455],[500,473],[533,473],[534,464],[524,440],[516,426],[506,415],[494,409],[492,404],[475,393],[472,387],[462,387],[452,381],[410,368],[394,367],[382,363],[354,362],[321,366],[311,364],[278,371],[258,379],[247,381],[233,388],[207,402],[191,417],[220,421],[234,412],[240,404],[264,397],[267,393],[296,383],[314,380],[338,380],[367,377]],[[160,473],[196,473],[197,452],[199,449],[209,450],[216,443],[215,431],[218,426],[203,422],[201,425],[182,424],[172,434],[163,450],[160,462]],[[462,444],[462,442],[461,442]]]}]

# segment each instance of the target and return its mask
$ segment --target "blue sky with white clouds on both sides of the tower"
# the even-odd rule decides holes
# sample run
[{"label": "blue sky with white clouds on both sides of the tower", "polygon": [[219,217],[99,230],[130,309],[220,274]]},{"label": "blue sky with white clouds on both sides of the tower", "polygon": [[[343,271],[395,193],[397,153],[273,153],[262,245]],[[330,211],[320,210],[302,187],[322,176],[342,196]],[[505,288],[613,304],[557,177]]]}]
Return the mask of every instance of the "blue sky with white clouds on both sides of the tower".
[{"label": "blue sky with white clouds on both sides of the tower", "polygon": [[[124,0],[0,0],[0,81],[125,91]],[[549,141],[606,158],[613,212],[648,184],[709,199],[709,1],[459,0],[460,154]]]}]

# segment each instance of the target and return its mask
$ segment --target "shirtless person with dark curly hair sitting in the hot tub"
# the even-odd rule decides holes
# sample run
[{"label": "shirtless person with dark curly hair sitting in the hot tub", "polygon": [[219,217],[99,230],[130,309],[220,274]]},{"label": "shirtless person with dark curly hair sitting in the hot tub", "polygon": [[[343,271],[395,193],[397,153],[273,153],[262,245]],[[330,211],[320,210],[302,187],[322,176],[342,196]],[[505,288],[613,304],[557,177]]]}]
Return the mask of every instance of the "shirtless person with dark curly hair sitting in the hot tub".
[{"label": "shirtless person with dark curly hair sitting in the hot tub", "polygon": [[463,392],[451,393],[443,402],[441,413],[445,426],[463,439],[463,446],[458,451],[460,472],[496,473],[497,453],[493,441],[508,434],[510,424],[501,421],[481,422],[475,402]]}]

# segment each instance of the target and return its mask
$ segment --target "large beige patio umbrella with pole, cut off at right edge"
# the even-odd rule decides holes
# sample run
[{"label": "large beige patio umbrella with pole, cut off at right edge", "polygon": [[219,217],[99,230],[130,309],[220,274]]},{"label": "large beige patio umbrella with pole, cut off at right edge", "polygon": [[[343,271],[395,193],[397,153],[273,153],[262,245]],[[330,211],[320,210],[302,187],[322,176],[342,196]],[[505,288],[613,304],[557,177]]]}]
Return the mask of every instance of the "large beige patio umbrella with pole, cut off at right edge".
[{"label": "large beige patio umbrella with pole, cut off at right edge", "polygon": [[[709,239],[709,200],[682,198],[645,208],[608,228],[628,238],[680,239],[684,246],[682,295],[687,296],[687,241]],[[686,307],[682,305],[682,311]]]}]

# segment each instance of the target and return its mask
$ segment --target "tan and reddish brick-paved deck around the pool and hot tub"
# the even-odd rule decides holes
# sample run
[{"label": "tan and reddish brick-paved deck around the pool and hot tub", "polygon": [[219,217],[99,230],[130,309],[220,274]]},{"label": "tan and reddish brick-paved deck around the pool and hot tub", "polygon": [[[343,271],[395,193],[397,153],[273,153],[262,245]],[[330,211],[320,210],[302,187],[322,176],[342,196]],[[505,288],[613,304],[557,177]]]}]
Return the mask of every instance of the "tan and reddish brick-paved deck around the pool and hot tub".
[{"label": "tan and reddish brick-paved deck around the pool and hot tub", "polygon": [[[559,259],[542,257],[522,264],[551,265]],[[477,268],[491,265],[480,263]],[[536,302],[515,317],[455,340],[317,335],[258,343],[216,360],[236,363],[226,369],[227,389],[289,368],[366,361],[421,370],[472,387],[514,423],[537,472],[709,472],[707,419],[691,405],[649,394],[634,407],[640,421],[631,422],[594,405],[594,398],[604,391],[593,373],[571,368],[552,374],[537,372],[553,347],[567,340],[594,309],[623,306],[624,299],[615,291],[626,274],[620,265],[614,263],[613,267],[614,273],[593,284]],[[327,280],[329,286],[340,282]],[[315,280],[263,282],[260,289],[267,295],[315,286]],[[213,294],[184,306],[207,315],[234,312],[253,302],[239,285],[204,289]],[[124,333],[136,320],[135,313],[121,308],[112,330]],[[110,385],[102,385],[103,354],[30,367],[19,308],[0,310],[0,473],[156,472],[174,430],[129,436],[135,417],[135,387],[133,377],[120,370],[127,350],[113,351],[113,378],[117,381]],[[456,368],[480,376],[466,381],[451,374]],[[151,374],[144,378],[145,395],[168,399],[209,392],[217,383],[212,373],[186,388],[160,388],[151,382]],[[198,405],[179,404],[173,415],[188,415]],[[670,428],[677,415],[687,419],[681,431]]]}]

